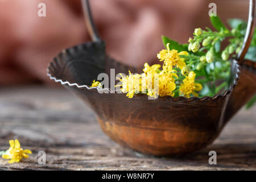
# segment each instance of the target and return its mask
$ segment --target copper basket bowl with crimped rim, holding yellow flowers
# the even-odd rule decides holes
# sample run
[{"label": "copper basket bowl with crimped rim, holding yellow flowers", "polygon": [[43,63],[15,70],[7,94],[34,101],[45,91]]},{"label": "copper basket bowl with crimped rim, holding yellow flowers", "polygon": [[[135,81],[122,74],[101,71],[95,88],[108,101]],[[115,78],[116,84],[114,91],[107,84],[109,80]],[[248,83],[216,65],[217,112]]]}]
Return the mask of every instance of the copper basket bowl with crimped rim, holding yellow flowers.
[{"label": "copper basket bowl with crimped rim, holding yellow flowers", "polygon": [[159,97],[144,94],[99,93],[89,88],[99,73],[127,73],[136,69],[105,55],[104,42],[65,49],[48,67],[48,75],[76,93],[95,111],[102,130],[115,142],[152,155],[186,154],[211,143],[224,126],[227,101],[237,84],[240,66],[232,61],[230,88],[214,97]]}]

